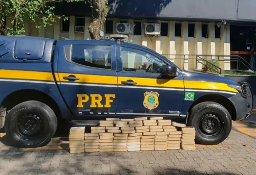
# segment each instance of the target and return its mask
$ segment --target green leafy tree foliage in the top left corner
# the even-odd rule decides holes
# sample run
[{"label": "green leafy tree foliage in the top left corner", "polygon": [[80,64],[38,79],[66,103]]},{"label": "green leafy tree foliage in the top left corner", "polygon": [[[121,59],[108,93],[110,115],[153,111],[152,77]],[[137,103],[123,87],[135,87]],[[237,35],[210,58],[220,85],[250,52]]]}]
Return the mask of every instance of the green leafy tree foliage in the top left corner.
[{"label": "green leafy tree foliage in the top left corner", "polygon": [[[6,35],[20,35],[25,31],[24,23],[32,21],[37,29],[51,26],[57,18],[54,5],[65,0],[0,0],[0,32]],[[86,2],[87,0],[66,0],[68,2]],[[11,26],[4,29],[6,21]]]}]

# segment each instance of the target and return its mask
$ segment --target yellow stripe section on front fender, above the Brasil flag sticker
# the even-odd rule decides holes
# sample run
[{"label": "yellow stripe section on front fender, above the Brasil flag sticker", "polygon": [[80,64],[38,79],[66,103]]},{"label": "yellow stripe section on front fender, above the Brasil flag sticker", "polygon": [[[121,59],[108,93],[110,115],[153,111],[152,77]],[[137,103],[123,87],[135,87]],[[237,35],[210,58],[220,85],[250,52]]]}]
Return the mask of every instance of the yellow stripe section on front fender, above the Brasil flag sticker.
[{"label": "yellow stripe section on front fender, above the Brasil flag sticker", "polygon": [[185,88],[188,88],[188,89],[224,90],[224,91],[238,93],[236,89],[227,86],[227,84],[225,83],[184,81],[184,85],[185,85]]}]

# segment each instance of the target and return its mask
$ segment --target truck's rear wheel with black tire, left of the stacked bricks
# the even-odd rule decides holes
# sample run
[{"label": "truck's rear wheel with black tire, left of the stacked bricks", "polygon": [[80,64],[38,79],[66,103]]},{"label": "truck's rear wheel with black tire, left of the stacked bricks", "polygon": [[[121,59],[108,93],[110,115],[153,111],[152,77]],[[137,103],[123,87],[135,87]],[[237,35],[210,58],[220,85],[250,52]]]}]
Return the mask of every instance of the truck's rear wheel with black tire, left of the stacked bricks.
[{"label": "truck's rear wheel with black tire, left of the stacked bricks", "polygon": [[57,117],[44,103],[27,101],[16,105],[6,116],[6,136],[18,147],[40,147],[51,141]]}]

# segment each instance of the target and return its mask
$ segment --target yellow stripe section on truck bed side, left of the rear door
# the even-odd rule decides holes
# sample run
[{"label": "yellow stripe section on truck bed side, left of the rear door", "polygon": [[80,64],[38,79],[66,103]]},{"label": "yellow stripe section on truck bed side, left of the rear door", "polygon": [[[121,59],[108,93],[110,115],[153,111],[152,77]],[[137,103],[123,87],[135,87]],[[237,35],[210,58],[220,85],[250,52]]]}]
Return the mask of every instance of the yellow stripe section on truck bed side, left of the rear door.
[{"label": "yellow stripe section on truck bed side, left of the rear door", "polygon": [[38,72],[26,70],[1,69],[0,78],[54,81],[52,72]]}]

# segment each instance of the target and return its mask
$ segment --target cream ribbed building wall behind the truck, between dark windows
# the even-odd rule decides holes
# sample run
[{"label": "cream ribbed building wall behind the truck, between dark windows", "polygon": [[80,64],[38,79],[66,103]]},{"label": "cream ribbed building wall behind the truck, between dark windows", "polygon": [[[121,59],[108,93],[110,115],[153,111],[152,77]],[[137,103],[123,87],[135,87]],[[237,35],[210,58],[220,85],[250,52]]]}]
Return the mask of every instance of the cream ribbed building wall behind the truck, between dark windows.
[{"label": "cream ribbed building wall behind the truck, between dark windows", "polygon": [[[61,32],[61,21],[57,20],[52,26],[38,31],[31,22],[26,22],[26,35],[40,36],[54,39],[90,39],[87,31],[90,24],[90,17],[85,17],[84,33],[75,33],[75,16],[70,16],[69,32]],[[114,33],[118,18],[113,19]],[[128,20],[133,26],[133,19]],[[158,21],[159,22],[159,21]],[[161,22],[161,21],[160,21]],[[166,22],[166,21],[165,21]],[[215,38],[215,23],[208,23],[208,38],[202,38],[201,22],[195,22],[195,37],[188,37],[188,22],[182,22],[181,37],[175,37],[175,21],[168,22],[168,36],[145,36],[144,23],[146,20],[141,20],[141,36],[129,35],[130,42],[140,44],[153,49],[159,54],[165,55],[166,58],[174,62],[180,68],[202,69],[202,64],[196,62],[196,55],[230,55],[230,28],[229,24],[222,24],[221,38]],[[8,23],[7,23],[8,26]],[[133,31],[133,30],[132,30]],[[107,35],[108,36],[108,35]],[[202,57],[206,59],[215,59],[215,57]],[[192,60],[194,59],[194,60]],[[229,57],[225,57],[225,62],[222,61],[220,66],[222,69],[230,69]]]}]

